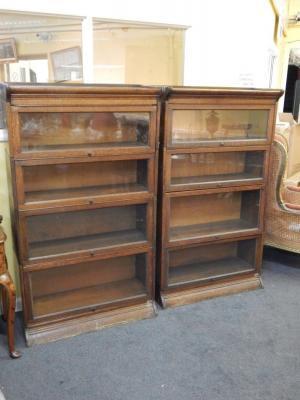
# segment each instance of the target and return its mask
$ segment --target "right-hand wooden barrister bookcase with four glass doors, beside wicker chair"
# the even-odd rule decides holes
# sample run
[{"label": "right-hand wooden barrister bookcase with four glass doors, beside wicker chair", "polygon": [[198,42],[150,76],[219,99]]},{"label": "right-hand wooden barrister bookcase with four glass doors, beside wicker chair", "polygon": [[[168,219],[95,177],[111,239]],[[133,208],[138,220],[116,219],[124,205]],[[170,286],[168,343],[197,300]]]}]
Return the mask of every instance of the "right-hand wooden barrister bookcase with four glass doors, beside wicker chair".
[{"label": "right-hand wooden barrister bookcase with four glass doors, beside wicker chair", "polygon": [[158,219],[163,306],[261,286],[265,186],[281,94],[168,89]]}]

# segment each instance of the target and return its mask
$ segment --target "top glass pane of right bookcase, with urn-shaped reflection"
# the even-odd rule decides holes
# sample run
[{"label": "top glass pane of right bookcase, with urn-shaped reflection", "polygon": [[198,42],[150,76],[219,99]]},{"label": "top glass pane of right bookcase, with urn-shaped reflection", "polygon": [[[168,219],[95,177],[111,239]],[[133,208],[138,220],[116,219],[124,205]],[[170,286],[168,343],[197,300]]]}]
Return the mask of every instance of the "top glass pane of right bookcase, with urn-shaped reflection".
[{"label": "top glass pane of right bookcase, with urn-shaped reflection", "polygon": [[174,110],[171,144],[265,139],[268,110]]}]

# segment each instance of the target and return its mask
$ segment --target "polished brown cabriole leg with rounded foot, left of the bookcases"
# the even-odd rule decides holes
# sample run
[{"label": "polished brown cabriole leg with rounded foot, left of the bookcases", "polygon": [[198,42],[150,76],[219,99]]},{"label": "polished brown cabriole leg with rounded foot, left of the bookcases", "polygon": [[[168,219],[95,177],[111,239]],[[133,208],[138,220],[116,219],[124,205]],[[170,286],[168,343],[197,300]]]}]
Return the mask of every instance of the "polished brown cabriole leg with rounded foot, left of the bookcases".
[{"label": "polished brown cabriole leg with rounded foot, left of the bookcases", "polygon": [[8,273],[0,276],[0,285],[6,289],[8,298],[8,313],[7,313],[7,336],[8,336],[8,350],[12,358],[19,358],[21,354],[15,350],[15,308],[16,308],[16,289],[13,281]]}]

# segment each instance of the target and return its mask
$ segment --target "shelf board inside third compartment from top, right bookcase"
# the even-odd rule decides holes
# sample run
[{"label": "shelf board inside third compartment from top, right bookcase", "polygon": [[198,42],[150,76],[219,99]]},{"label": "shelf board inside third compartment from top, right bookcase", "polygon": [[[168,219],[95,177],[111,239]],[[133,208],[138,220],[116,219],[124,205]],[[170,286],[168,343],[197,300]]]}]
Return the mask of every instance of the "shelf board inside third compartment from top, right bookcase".
[{"label": "shelf board inside third compartment from top, right bookcase", "polygon": [[170,228],[170,241],[224,235],[238,234],[247,230],[257,230],[257,226],[242,219],[196,224]]}]

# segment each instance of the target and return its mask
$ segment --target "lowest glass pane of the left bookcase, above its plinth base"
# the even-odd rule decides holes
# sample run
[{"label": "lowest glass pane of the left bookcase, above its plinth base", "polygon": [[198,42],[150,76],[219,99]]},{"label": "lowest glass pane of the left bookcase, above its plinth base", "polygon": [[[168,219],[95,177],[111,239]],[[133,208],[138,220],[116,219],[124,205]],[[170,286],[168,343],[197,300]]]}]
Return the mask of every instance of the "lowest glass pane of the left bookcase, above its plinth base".
[{"label": "lowest glass pane of the left bookcase, above its plinth base", "polygon": [[109,304],[146,294],[146,255],[60,266],[29,279],[34,317]]}]

